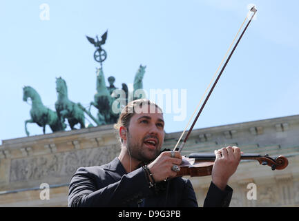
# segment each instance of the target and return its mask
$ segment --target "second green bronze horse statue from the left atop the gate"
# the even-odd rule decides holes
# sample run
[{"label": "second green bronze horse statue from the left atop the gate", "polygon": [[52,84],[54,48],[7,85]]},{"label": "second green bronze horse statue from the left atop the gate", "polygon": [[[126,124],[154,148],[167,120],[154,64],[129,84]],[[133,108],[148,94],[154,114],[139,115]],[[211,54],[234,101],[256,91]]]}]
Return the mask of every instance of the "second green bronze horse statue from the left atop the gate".
[{"label": "second green bronze horse statue from the left atop the gate", "polygon": [[61,77],[56,78],[56,91],[58,99],[55,103],[55,108],[61,124],[64,123],[64,119],[68,119],[68,124],[70,124],[72,130],[75,124],[78,123],[80,124],[80,128],[85,128],[84,111],[78,104],[68,99],[68,87],[66,86],[66,81]]}]

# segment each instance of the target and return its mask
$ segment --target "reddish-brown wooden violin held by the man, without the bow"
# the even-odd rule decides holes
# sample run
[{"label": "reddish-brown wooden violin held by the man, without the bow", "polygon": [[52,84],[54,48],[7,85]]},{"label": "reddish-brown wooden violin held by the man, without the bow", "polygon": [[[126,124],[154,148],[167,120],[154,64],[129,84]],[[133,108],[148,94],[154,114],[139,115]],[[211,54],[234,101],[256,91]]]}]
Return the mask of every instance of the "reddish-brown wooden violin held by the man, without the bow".
[{"label": "reddish-brown wooden violin held by the man, without the bow", "polygon": [[[215,153],[193,153],[189,157],[182,156],[182,163],[180,164],[180,171],[177,172],[177,177],[184,175],[191,177],[211,175],[215,159]],[[241,160],[257,160],[264,166],[270,166],[273,171],[282,170],[289,164],[287,157],[282,155],[272,158],[267,154],[247,153],[241,155]]]}]

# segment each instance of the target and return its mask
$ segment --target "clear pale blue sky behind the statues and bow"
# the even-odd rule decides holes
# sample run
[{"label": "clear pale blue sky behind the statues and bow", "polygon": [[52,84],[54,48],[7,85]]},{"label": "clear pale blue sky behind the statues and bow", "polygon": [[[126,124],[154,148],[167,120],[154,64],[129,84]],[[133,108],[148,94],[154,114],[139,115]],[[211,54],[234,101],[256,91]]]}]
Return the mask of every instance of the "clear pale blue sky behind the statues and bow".
[{"label": "clear pale blue sky behind the statues and bow", "polygon": [[[88,107],[99,63],[86,35],[106,30],[107,86],[111,75],[118,88],[133,84],[146,66],[144,90],[171,94],[160,104],[166,133],[183,131],[252,4],[257,15],[195,128],[299,114],[299,1],[0,1],[0,144],[26,137],[31,102],[23,102],[23,86],[55,111],[62,77],[69,99]],[[37,124],[28,131],[43,134]]]}]

